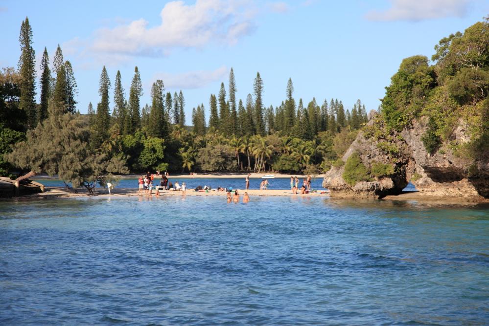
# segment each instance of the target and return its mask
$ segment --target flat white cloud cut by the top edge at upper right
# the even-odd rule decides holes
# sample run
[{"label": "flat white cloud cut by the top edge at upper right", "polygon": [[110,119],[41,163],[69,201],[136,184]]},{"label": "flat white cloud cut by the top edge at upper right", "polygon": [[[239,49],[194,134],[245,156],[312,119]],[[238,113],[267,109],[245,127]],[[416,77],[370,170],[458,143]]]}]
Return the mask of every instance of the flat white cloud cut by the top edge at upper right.
[{"label": "flat white cloud cut by the top edge at upper right", "polygon": [[366,18],[372,21],[422,21],[444,17],[463,17],[469,0],[390,0],[384,11],[373,10]]}]

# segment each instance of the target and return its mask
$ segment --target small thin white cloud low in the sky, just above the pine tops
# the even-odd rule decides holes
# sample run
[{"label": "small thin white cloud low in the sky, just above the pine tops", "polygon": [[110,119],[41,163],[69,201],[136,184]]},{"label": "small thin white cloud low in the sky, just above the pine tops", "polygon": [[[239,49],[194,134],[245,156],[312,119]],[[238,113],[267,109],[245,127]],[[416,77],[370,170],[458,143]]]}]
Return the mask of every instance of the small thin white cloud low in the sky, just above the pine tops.
[{"label": "small thin white cloud low in the sky, just above the pine tops", "polygon": [[211,71],[197,70],[178,74],[160,72],[153,76],[153,80],[163,80],[166,88],[190,89],[204,87],[209,83],[222,80],[228,73],[228,68],[226,66],[222,66]]}]

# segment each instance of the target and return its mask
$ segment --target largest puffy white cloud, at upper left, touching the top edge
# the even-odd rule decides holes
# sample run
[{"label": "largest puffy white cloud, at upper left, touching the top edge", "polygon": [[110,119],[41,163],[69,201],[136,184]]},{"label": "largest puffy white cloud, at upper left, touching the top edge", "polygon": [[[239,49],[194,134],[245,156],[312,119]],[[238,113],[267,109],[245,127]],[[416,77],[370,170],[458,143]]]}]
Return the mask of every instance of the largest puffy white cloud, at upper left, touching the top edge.
[{"label": "largest puffy white cloud, at upper left, touching the top edge", "polygon": [[161,24],[139,19],[95,32],[91,49],[99,53],[162,56],[174,47],[201,48],[217,41],[234,44],[254,30],[251,0],[197,0],[165,4]]}]

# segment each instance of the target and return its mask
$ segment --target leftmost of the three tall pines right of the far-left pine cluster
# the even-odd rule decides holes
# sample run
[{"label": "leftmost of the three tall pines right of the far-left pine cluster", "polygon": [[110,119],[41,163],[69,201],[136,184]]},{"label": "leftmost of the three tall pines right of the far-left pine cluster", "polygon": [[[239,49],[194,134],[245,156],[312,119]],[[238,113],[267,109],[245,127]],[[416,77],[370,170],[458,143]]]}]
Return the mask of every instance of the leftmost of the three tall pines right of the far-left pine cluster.
[{"label": "leftmost of the three tall pines right of the far-left pine cluster", "polygon": [[109,139],[110,127],[110,109],[109,109],[109,88],[111,87],[107,69],[102,68],[100,74],[100,82],[98,94],[100,95],[100,103],[97,105],[97,113],[93,126],[92,144],[94,148],[100,148],[103,142]]}]

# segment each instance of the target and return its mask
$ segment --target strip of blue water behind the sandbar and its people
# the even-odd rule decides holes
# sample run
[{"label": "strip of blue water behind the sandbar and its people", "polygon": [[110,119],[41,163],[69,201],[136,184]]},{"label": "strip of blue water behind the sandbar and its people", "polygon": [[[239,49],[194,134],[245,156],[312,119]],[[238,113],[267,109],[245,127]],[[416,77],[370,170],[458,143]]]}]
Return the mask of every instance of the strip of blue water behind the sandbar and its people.
[{"label": "strip of blue water behind the sandbar and its people", "polygon": [[[187,189],[194,189],[197,186],[210,186],[213,189],[217,189],[217,187],[229,188],[233,187],[233,189],[244,189],[245,181],[243,178],[174,178],[170,176],[169,180],[172,183],[178,181],[180,184],[182,182],[186,183]],[[63,187],[63,181],[59,179],[36,179],[36,181],[41,182],[45,186],[48,187]],[[250,179],[250,189],[259,189],[260,187],[260,178],[251,178]],[[269,186],[268,189],[290,189],[290,178],[275,178],[268,179]],[[303,178],[299,179],[299,185],[302,186]],[[155,183],[160,184],[160,179],[157,179]],[[311,187],[313,189],[324,190],[323,188],[323,179],[322,178],[313,178],[311,181]],[[138,188],[138,179],[137,178],[120,178],[116,181],[116,187],[118,188]],[[416,188],[412,183],[409,183],[405,190],[415,191]]]}]

